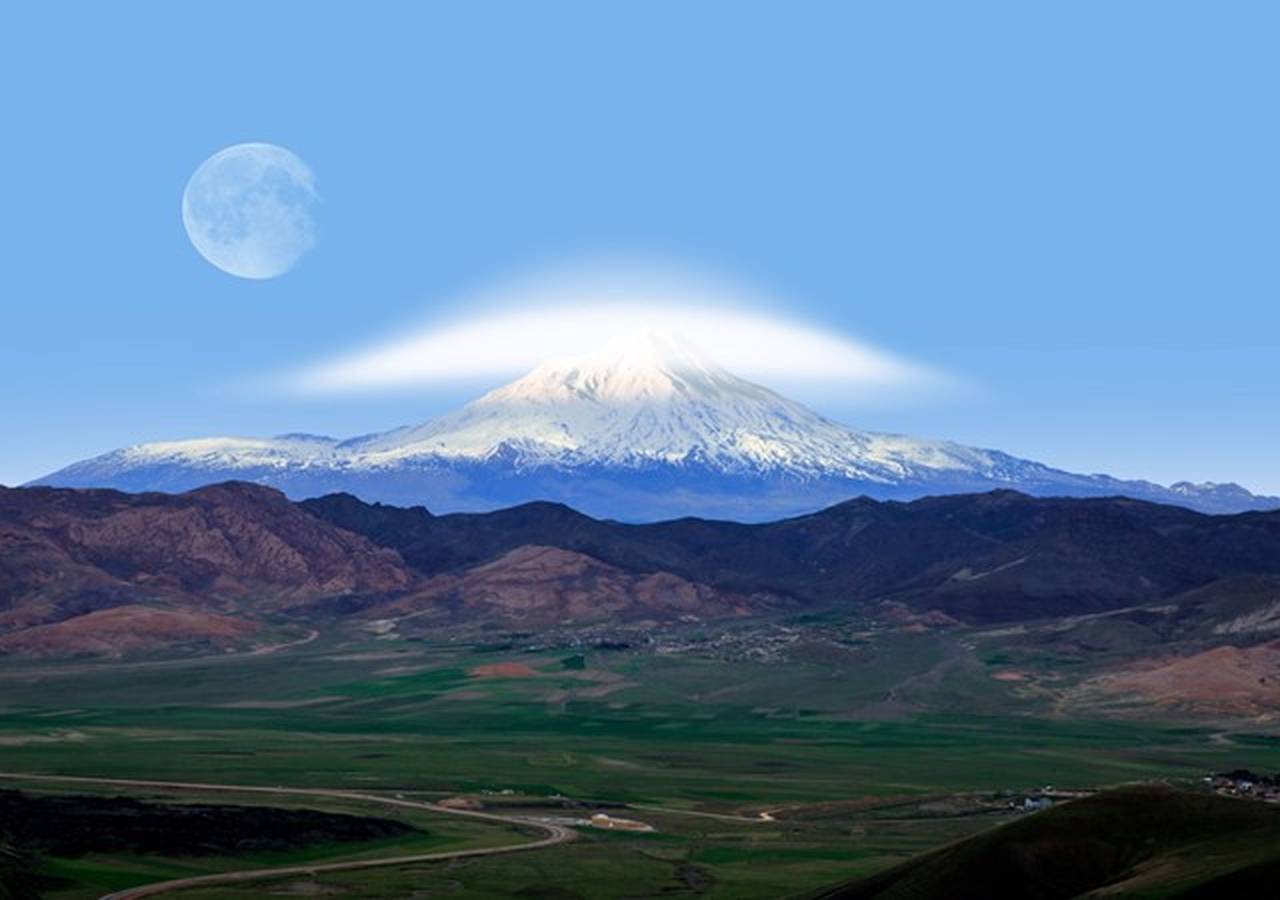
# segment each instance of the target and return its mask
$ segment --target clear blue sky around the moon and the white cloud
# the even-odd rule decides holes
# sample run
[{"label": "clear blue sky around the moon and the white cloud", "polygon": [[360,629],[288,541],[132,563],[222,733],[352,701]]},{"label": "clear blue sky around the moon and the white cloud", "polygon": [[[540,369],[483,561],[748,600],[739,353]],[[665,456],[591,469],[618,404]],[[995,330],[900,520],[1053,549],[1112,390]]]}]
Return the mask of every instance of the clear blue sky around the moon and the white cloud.
[{"label": "clear blue sky around the moon and the white cloud", "polygon": [[[140,440],[356,434],[475,385],[233,389],[602,255],[977,385],[850,424],[1280,493],[1274,4],[13,5],[0,481]],[[268,141],[319,242],[250,282],[183,232]],[[856,408],[855,408],[856,406]]]}]

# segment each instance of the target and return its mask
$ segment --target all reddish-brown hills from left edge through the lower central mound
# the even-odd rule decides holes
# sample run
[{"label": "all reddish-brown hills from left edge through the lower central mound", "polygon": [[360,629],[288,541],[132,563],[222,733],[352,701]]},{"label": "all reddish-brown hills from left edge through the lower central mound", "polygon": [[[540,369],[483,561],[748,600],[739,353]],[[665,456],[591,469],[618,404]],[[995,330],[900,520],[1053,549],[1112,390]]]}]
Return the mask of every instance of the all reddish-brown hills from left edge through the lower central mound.
[{"label": "all reddish-brown hills from left edge through the lower central mound", "polygon": [[335,617],[407,617],[412,634],[732,616],[774,602],[524,542],[443,574],[379,543],[390,542],[241,483],[172,495],[0,489],[0,654],[247,649]]}]

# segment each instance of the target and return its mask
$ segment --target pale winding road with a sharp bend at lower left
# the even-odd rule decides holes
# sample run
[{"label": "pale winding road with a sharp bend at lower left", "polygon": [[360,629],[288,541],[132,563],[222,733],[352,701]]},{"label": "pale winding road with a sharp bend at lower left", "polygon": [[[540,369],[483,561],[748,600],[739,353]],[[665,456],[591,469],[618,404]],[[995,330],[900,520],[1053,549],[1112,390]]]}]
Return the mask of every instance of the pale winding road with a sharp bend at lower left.
[{"label": "pale winding road with a sharp bend at lower left", "polygon": [[517,816],[502,816],[498,813],[481,813],[474,809],[451,809],[434,803],[421,803],[419,800],[403,800],[401,798],[379,796],[376,794],[362,794],[358,791],[337,791],[320,787],[259,787],[253,785],[209,785],[191,781],[147,781],[141,778],[91,778],[82,776],[61,775],[26,775],[22,772],[0,772],[0,778],[12,781],[42,781],[56,783],[81,785],[110,785],[115,787],[154,787],[163,790],[182,791],[210,791],[225,794],[271,794],[276,796],[316,796],[330,800],[357,800],[361,803],[375,803],[385,807],[401,807],[406,809],[420,809],[443,816],[461,816],[463,818],[513,824],[521,828],[535,828],[545,836],[536,841],[525,844],[509,844],[495,848],[476,848],[472,850],[439,850],[435,853],[421,853],[411,856],[388,856],[385,859],[362,859],[347,863],[312,863],[307,865],[282,865],[269,869],[243,869],[238,872],[216,872],[214,874],[193,876],[191,878],[175,878],[173,881],[157,881],[151,885],[129,887],[114,894],[106,894],[101,900],[138,900],[151,897],[169,891],[180,891],[191,887],[216,887],[219,885],[236,885],[250,881],[264,881],[268,878],[287,878],[291,876],[310,876],[319,872],[349,872],[353,869],[372,869],[389,865],[410,865],[413,863],[430,863],[445,859],[463,859],[467,856],[495,856],[504,853],[524,853],[526,850],[539,850],[573,840],[577,835],[572,828],[549,822],[534,822]]}]

